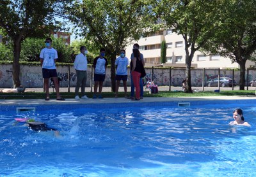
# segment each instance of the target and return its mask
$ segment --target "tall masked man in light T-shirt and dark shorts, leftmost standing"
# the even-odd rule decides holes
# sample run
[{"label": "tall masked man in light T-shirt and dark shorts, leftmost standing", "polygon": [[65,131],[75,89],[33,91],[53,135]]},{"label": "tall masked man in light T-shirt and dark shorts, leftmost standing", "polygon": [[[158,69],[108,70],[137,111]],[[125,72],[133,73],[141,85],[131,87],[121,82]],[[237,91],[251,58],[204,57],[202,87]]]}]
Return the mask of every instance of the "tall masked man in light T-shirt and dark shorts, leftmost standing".
[{"label": "tall masked man in light T-shirt and dark shorts, leftmost standing", "polygon": [[40,52],[40,64],[42,66],[42,73],[44,78],[44,88],[45,88],[45,101],[50,100],[49,96],[49,78],[52,78],[54,81],[54,87],[56,90],[57,100],[65,101],[65,99],[61,98],[60,96],[60,87],[59,81],[56,71],[55,62],[58,59],[57,50],[52,48],[52,39],[47,38],[45,39],[45,48],[43,48]]}]

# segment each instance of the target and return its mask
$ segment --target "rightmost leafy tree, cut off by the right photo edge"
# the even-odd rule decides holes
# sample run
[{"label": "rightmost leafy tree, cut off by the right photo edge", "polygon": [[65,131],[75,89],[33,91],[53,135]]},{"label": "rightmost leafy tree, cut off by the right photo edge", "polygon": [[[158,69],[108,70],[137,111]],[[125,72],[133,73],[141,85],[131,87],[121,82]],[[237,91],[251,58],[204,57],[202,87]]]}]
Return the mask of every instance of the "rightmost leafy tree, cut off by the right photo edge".
[{"label": "rightmost leafy tree, cut off by the right photo edge", "polygon": [[245,64],[256,50],[256,7],[254,0],[225,0],[218,4],[214,36],[204,50],[230,57],[240,66],[239,89],[244,90]]}]

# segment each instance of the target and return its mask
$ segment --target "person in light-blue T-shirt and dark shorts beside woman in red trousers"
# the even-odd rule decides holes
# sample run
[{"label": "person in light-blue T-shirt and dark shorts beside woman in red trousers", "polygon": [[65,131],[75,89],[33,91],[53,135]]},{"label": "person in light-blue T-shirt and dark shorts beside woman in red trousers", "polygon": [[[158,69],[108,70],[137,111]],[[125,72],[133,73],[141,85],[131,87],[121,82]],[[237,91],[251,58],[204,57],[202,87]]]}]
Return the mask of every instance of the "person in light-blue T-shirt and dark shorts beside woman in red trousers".
[{"label": "person in light-blue T-shirt and dark shorts beside woman in red trousers", "polygon": [[129,65],[129,59],[125,57],[125,50],[120,50],[120,56],[116,58],[115,66],[116,66],[116,94],[115,98],[118,97],[118,88],[120,85],[120,81],[123,81],[124,84],[124,94],[125,98],[127,97],[127,66]]}]

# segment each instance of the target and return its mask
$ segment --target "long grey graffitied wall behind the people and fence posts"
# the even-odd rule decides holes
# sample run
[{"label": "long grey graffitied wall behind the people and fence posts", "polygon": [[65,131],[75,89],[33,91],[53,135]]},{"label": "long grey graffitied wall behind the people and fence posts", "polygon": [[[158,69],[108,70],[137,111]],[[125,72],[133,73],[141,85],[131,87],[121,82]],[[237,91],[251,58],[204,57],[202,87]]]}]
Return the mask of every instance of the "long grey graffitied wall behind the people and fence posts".
[{"label": "long grey graffitied wall behind the people and fence posts", "polygon": [[[146,68],[147,75],[144,81],[149,78],[153,78],[154,83],[157,85],[172,85],[180,86],[182,80],[185,78],[185,69],[169,69],[169,68]],[[218,77],[218,69],[205,69],[204,84],[208,80]],[[68,87],[68,75],[70,81],[70,87],[76,86],[76,71],[72,66],[58,66],[57,73],[62,81],[60,81],[60,87]],[[69,74],[68,74],[69,73]],[[203,69],[191,69],[191,85],[193,87],[202,86],[203,81]],[[232,70],[220,70],[220,76],[227,76],[232,78]],[[239,83],[239,71],[234,71],[234,80]],[[171,75],[171,78],[170,78]],[[249,71],[249,81],[256,80],[256,71]],[[26,88],[40,88],[43,87],[42,68],[40,66],[20,66],[20,81],[21,85]],[[88,66],[86,87],[90,87],[93,81],[92,67]],[[104,81],[104,87],[110,87],[110,67],[107,68],[106,79]],[[130,74],[128,75],[127,85],[131,85]],[[0,88],[13,87],[12,79],[12,64],[0,65]]]}]

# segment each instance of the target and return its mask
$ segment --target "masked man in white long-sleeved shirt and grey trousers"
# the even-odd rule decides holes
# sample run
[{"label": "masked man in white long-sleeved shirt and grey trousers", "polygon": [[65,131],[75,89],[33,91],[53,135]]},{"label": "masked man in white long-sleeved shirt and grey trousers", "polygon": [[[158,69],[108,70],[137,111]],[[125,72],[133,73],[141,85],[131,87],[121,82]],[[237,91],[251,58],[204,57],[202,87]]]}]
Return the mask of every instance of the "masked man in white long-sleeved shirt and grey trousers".
[{"label": "masked man in white long-sleeved shirt and grey trousers", "polygon": [[80,47],[80,52],[78,55],[76,55],[76,59],[74,62],[74,68],[76,69],[76,97],[75,99],[80,99],[79,97],[79,87],[81,86],[81,93],[82,97],[81,99],[88,99],[88,97],[85,95],[85,86],[86,86],[86,80],[87,80],[87,57],[86,54],[88,53],[88,50],[86,49],[86,46]]}]

